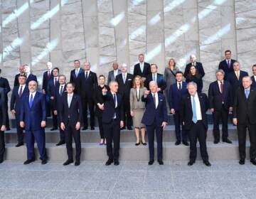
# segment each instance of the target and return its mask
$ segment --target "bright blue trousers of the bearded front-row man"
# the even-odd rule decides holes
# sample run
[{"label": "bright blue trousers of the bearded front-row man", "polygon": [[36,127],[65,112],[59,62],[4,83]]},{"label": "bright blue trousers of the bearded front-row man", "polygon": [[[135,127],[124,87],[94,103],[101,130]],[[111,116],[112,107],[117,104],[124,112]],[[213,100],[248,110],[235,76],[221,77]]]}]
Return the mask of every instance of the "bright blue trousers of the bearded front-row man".
[{"label": "bright blue trousers of the bearded front-row man", "polygon": [[35,159],[34,144],[38,146],[38,151],[41,160],[46,160],[46,134],[44,129],[31,131],[26,130],[26,146],[27,146],[27,156],[28,160]]}]

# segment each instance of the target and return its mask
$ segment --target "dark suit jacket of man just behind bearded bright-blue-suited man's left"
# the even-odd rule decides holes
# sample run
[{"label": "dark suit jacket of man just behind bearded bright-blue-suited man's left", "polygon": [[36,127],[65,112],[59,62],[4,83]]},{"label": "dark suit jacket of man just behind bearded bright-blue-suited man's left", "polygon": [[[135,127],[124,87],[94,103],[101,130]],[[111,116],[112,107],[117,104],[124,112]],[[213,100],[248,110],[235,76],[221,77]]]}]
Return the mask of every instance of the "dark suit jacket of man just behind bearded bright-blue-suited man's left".
[{"label": "dark suit jacket of man just behind bearded bright-blue-suited man's left", "polygon": [[21,97],[18,95],[18,89],[19,89],[19,85],[14,87],[14,90],[11,93],[11,103],[10,103],[10,109],[11,110],[14,109],[15,112],[16,112],[16,119],[19,119],[18,116],[20,115],[22,98],[25,95],[28,95],[28,87],[26,85],[23,88],[23,92],[22,92]]}]

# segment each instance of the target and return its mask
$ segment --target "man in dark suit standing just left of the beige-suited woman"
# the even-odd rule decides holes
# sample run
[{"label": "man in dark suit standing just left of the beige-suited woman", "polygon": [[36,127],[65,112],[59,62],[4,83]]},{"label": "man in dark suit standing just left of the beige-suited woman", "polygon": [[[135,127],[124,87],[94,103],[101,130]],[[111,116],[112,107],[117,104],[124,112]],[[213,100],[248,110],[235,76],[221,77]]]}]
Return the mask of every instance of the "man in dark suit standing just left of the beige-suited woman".
[{"label": "man in dark suit standing just left of the beige-suited woman", "polygon": [[122,74],[117,75],[116,81],[118,83],[118,92],[124,99],[124,127],[122,129],[132,130],[132,116],[130,114],[129,94],[132,88],[133,75],[127,72],[127,64],[122,64]]}]

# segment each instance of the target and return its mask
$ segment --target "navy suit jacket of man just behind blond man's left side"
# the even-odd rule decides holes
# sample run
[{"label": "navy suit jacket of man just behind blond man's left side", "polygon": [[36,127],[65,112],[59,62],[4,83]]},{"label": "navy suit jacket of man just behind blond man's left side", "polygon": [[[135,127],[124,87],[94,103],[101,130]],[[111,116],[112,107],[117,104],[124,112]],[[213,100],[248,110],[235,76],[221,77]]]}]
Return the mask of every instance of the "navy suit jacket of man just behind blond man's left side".
[{"label": "navy suit jacket of man just behind blond man's left side", "polygon": [[175,111],[179,111],[181,107],[181,99],[183,95],[188,94],[188,90],[186,88],[187,83],[182,82],[181,90],[178,90],[177,83],[170,86],[168,102],[170,109],[174,109]]}]

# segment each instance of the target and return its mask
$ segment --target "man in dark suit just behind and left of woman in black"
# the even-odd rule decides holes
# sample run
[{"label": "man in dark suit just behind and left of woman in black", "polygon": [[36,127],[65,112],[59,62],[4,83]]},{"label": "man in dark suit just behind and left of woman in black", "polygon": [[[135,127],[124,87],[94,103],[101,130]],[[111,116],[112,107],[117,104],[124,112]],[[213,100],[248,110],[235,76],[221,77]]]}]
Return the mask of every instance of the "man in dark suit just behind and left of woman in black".
[{"label": "man in dark suit just behind and left of woman in black", "polygon": [[97,87],[97,75],[95,72],[90,70],[90,63],[84,63],[84,72],[80,73],[78,79],[78,93],[82,100],[82,118],[84,122],[84,127],[82,130],[88,129],[87,122],[87,107],[90,111],[90,127],[91,130],[95,129],[95,112],[94,107],[95,103],[93,100],[93,93]]}]

